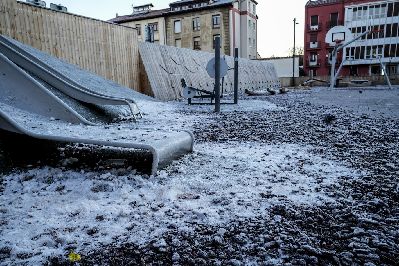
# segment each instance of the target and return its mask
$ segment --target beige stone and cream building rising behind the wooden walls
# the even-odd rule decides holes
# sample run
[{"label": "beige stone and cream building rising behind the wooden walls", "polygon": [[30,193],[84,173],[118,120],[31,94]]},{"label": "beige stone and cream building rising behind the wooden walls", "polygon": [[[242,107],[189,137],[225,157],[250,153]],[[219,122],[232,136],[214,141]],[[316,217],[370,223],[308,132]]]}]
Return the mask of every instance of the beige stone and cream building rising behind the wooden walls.
[{"label": "beige stone and cream building rising behind the wooden walls", "polygon": [[222,54],[233,55],[239,47],[239,57],[256,59],[256,5],[255,0],[181,0],[162,10],[152,10],[152,4],[136,6],[132,14],[109,21],[138,28],[141,41],[144,25],[150,25],[155,43],[210,53],[220,36]]}]

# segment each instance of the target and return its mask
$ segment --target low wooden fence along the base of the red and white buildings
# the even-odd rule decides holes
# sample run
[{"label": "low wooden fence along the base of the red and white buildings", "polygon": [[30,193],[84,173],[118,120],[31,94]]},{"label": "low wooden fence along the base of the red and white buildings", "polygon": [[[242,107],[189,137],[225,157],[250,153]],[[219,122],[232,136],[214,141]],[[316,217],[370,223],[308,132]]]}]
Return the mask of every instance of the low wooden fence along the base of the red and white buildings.
[{"label": "low wooden fence along the base of the red and white buildings", "polygon": [[[295,86],[302,84],[304,81],[307,81],[310,77],[295,77]],[[314,76],[316,79],[322,79],[326,81],[330,81],[331,76]],[[352,76],[345,76],[338,75],[338,78],[342,78],[340,83],[350,82],[352,80],[365,80],[371,81],[372,86],[376,85],[387,85],[387,81],[385,80],[385,76],[380,75],[372,75],[372,76],[359,76],[359,77],[352,77]],[[282,87],[289,87],[292,85],[292,77],[283,77],[279,78]],[[399,84],[399,75],[391,75],[390,82],[392,85]],[[313,86],[327,86],[327,83],[323,83],[320,81],[315,81],[312,83]]]}]

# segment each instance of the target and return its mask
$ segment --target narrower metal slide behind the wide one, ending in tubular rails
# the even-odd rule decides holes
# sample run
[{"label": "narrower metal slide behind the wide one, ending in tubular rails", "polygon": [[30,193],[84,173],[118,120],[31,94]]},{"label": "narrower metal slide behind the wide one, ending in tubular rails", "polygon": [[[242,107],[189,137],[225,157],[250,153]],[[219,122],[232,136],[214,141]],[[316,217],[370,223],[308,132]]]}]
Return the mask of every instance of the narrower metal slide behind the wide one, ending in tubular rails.
[{"label": "narrower metal slide behind the wide one, ending in tubular rails", "polygon": [[[91,104],[127,104],[132,112],[134,120],[137,121],[136,114],[139,114],[140,117],[143,118],[134,99],[115,97],[89,89],[73,81],[73,79],[67,77],[28,51],[25,51],[20,46],[16,45],[16,43],[10,41],[10,39],[1,34],[0,53],[8,57],[8,59],[20,67],[23,67],[74,99]],[[132,106],[131,103],[133,103],[134,106]]]}]

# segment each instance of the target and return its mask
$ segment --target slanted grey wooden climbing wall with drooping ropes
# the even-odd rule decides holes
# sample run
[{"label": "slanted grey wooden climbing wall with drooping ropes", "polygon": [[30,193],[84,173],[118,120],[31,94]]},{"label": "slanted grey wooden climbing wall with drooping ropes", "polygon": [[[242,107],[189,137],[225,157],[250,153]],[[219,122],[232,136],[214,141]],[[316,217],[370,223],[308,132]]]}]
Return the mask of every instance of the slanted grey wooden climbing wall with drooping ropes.
[{"label": "slanted grey wooden climbing wall with drooping ropes", "polygon": [[[161,100],[182,98],[183,88],[180,79],[183,77],[190,86],[213,91],[215,80],[207,74],[206,64],[215,57],[215,54],[142,41],[139,42],[139,52],[146,73],[146,77],[142,75],[143,87],[150,83],[155,98]],[[226,61],[229,68],[234,67],[234,57],[226,56]],[[238,62],[239,91],[280,87],[273,63],[243,58],[239,58]],[[233,70],[229,70],[225,75],[223,90],[225,93],[234,91]]]}]

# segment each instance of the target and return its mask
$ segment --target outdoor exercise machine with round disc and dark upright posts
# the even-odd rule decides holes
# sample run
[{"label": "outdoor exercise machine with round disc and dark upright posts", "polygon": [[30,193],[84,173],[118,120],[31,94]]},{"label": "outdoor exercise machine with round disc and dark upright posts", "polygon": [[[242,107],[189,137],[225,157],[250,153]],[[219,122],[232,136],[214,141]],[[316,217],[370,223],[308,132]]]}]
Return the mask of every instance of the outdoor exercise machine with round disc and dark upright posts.
[{"label": "outdoor exercise machine with round disc and dark upright posts", "polygon": [[[234,69],[234,101],[233,102],[220,102],[220,98],[223,98],[223,86],[224,76],[227,71]],[[192,86],[188,86],[186,79],[182,78],[183,95],[187,98],[187,104],[215,104],[215,111],[220,111],[220,104],[237,104],[238,102],[238,47],[234,48],[234,67],[229,68],[225,60],[220,57],[220,37],[215,37],[215,57],[210,59],[206,65],[206,71],[208,75],[215,79],[215,87],[213,91],[206,91],[198,89]],[[220,79],[222,79],[222,87],[220,93]],[[196,95],[199,92],[200,95]],[[211,98],[209,103],[207,102],[192,102],[192,98]],[[215,102],[213,103],[213,99]]]}]

